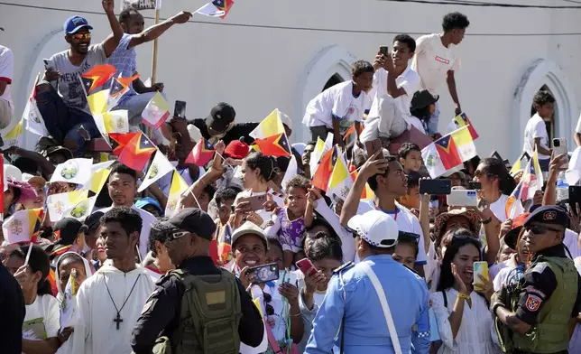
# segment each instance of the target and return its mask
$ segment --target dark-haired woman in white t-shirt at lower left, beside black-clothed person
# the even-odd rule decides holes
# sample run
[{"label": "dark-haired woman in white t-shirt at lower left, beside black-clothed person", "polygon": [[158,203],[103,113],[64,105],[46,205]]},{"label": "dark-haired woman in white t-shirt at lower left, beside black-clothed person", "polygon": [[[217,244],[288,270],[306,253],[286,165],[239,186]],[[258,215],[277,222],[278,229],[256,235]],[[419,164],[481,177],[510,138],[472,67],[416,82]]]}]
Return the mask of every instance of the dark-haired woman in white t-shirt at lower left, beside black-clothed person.
[{"label": "dark-haired woman in white t-shirt at lower left, beside black-clothed person", "polygon": [[52,354],[59,349],[60,312],[59,302],[52,296],[47,280],[50,260],[41,247],[32,246],[28,264],[24,265],[29,247],[25,245],[14,250],[6,265],[23,289],[26,305],[23,353]]}]

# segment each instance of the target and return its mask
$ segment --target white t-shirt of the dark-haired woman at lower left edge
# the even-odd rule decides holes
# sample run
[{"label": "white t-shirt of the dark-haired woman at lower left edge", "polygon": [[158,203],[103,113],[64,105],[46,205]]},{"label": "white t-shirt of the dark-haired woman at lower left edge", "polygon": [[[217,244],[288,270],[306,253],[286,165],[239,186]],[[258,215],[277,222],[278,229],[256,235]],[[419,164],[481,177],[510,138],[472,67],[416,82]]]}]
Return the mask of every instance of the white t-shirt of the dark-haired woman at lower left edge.
[{"label": "white t-shirt of the dark-haired woman at lower left edge", "polygon": [[23,338],[46,340],[54,338],[60,329],[59,302],[52,295],[38,295],[34,303],[26,305]]}]

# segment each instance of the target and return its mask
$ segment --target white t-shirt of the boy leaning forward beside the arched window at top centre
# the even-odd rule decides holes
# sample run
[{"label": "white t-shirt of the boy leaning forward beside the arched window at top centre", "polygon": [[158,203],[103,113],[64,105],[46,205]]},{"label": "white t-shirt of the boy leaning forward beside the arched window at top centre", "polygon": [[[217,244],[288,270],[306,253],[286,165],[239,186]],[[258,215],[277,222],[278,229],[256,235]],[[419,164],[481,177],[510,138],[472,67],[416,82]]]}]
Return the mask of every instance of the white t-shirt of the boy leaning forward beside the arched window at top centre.
[{"label": "white t-shirt of the boy leaning forward beside the arched window at top centre", "polygon": [[311,99],[302,124],[332,129],[335,118],[339,120],[341,134],[344,134],[354,122],[362,122],[365,109],[370,106],[369,98],[363,91],[355,97],[353,84],[353,81],[338,83]]}]

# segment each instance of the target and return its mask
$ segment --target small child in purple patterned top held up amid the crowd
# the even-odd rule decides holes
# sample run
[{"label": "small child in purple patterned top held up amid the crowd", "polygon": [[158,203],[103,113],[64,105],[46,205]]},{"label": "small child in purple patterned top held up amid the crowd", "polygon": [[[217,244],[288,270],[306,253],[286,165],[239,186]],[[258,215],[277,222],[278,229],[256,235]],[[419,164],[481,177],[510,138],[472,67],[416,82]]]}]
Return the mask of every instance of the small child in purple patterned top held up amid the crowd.
[{"label": "small child in purple patterned top held up amid the crowd", "polygon": [[307,193],[310,182],[303,176],[295,176],[287,183],[286,196],[288,205],[274,210],[272,226],[264,230],[267,238],[277,238],[282,246],[284,267],[291,269],[294,262],[305,257],[302,237],[306,226],[313,219],[312,213],[306,215]]}]

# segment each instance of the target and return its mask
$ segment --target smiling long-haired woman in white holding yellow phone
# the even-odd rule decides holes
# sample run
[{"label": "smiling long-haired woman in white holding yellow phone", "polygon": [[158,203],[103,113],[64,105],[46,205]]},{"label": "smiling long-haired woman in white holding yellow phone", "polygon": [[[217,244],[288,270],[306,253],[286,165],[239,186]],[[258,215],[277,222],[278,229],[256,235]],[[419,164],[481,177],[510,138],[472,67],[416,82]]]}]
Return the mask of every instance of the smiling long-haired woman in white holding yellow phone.
[{"label": "smiling long-haired woman in white holding yellow phone", "polygon": [[488,303],[493,294],[490,277],[479,277],[484,291],[475,292],[474,264],[481,261],[481,244],[465,229],[458,229],[446,249],[437,292],[431,293],[439,336],[438,354],[501,353]]}]

